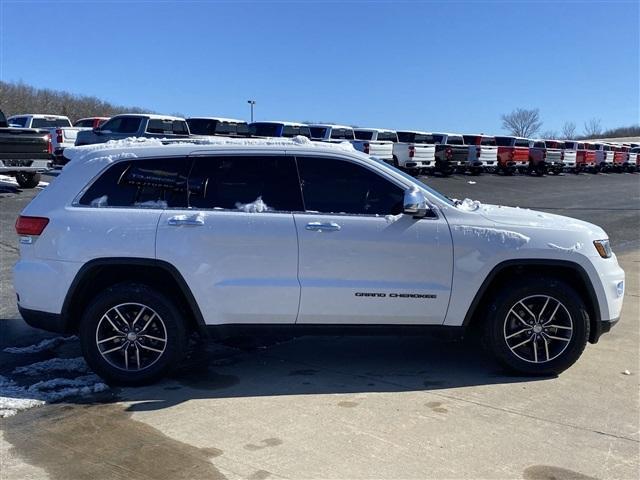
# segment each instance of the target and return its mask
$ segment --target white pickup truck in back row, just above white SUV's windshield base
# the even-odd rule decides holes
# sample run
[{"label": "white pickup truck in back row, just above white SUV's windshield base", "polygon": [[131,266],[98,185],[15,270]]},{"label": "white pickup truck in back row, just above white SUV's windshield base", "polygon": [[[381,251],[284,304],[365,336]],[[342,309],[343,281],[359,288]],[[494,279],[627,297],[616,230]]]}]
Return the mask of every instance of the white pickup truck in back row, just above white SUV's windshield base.
[{"label": "white pickup truck in back row, just above white SUV's windshield base", "polygon": [[416,130],[398,130],[393,144],[393,164],[411,173],[425,173],[436,167],[433,135]]}]

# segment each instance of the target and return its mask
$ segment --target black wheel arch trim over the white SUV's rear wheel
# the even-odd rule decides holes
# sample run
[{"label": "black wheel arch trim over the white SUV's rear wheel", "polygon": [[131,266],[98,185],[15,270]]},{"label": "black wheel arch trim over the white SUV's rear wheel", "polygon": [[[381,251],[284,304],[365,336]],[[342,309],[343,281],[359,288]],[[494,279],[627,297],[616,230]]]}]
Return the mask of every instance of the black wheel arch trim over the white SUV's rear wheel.
[{"label": "black wheel arch trim over the white SUV's rear wheel", "polygon": [[62,305],[65,330],[77,332],[82,312],[105,288],[122,282],[141,282],[171,295],[188,319],[187,326],[206,335],[202,312],[180,272],[170,263],[144,258],[100,258],[85,263],[76,274]]}]

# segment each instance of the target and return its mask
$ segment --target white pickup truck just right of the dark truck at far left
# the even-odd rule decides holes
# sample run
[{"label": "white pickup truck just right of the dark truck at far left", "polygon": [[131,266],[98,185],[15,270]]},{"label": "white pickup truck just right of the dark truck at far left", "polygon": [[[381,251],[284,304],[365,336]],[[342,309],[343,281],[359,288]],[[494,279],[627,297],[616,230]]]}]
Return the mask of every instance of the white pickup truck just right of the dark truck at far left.
[{"label": "white pickup truck just right of the dark truck at far left", "polygon": [[64,115],[26,114],[13,115],[7,119],[9,124],[22,128],[38,128],[48,130],[51,134],[51,147],[53,148],[53,165],[62,166],[66,162],[63,157],[64,149],[73,147],[76,137],[81,130],[90,128],[72,127],[69,117]]}]

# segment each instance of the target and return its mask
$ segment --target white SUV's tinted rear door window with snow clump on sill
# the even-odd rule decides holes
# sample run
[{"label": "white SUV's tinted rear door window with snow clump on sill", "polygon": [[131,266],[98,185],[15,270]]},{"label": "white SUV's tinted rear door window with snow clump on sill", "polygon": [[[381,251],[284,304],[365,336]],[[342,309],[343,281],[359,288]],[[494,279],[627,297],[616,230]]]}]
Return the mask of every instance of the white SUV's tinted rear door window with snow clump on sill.
[{"label": "white SUV's tinted rear door window with snow clump on sill", "polygon": [[189,192],[193,208],[303,210],[293,157],[198,157],[189,175]]}]

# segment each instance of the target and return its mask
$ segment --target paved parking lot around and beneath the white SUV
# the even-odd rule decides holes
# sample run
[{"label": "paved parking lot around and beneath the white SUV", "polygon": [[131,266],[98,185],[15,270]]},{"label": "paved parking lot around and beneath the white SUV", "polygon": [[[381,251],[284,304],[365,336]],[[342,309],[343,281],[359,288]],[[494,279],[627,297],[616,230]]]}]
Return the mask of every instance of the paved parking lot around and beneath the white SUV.
[{"label": "paved parking lot around and beneath the white SUV", "polygon": [[[45,181],[48,181],[46,177]],[[0,419],[0,477],[637,478],[640,174],[426,177],[456,198],[601,225],[627,273],[622,319],[555,378],[512,376],[465,343],[399,337],[198,345],[171,378]],[[27,327],[13,223],[36,191],[0,183],[0,349]],[[80,355],[0,351],[0,375]]]}]

